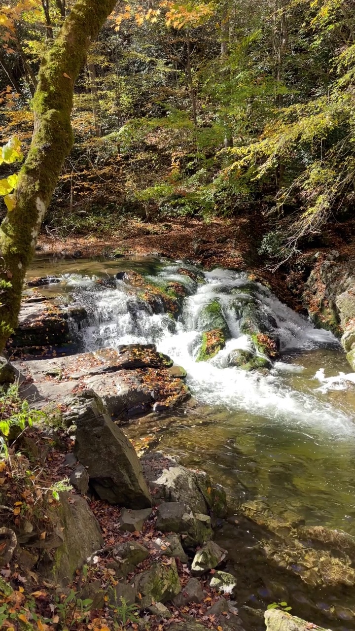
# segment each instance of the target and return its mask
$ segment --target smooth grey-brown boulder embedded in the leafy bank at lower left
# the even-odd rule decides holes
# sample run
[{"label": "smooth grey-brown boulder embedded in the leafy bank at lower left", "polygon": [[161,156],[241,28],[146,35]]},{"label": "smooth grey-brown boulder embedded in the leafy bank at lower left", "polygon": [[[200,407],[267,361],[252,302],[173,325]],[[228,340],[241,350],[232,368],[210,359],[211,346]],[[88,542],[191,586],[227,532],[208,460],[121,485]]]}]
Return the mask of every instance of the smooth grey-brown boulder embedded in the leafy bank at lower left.
[{"label": "smooth grey-brown boulder embedded in the leafy bank at lower left", "polygon": [[[70,497],[71,502],[68,502]],[[58,583],[71,582],[75,570],[104,544],[97,519],[81,495],[60,493],[60,503],[51,510],[51,517],[59,517],[63,543],[56,550],[51,575]]]}]

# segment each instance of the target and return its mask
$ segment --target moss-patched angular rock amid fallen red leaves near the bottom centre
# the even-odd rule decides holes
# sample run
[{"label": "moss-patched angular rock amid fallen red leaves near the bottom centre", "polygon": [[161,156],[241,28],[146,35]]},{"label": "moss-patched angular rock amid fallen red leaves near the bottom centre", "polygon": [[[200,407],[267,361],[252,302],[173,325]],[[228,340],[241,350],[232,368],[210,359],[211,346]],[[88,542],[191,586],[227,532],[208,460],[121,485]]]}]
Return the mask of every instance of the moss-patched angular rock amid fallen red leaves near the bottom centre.
[{"label": "moss-patched angular rock amid fallen red leaves near the bottom centre", "polygon": [[142,596],[142,609],[150,607],[153,603],[166,603],[181,591],[175,560],[171,559],[170,565],[153,563],[149,570],[136,574],[131,580],[131,585]]}]

